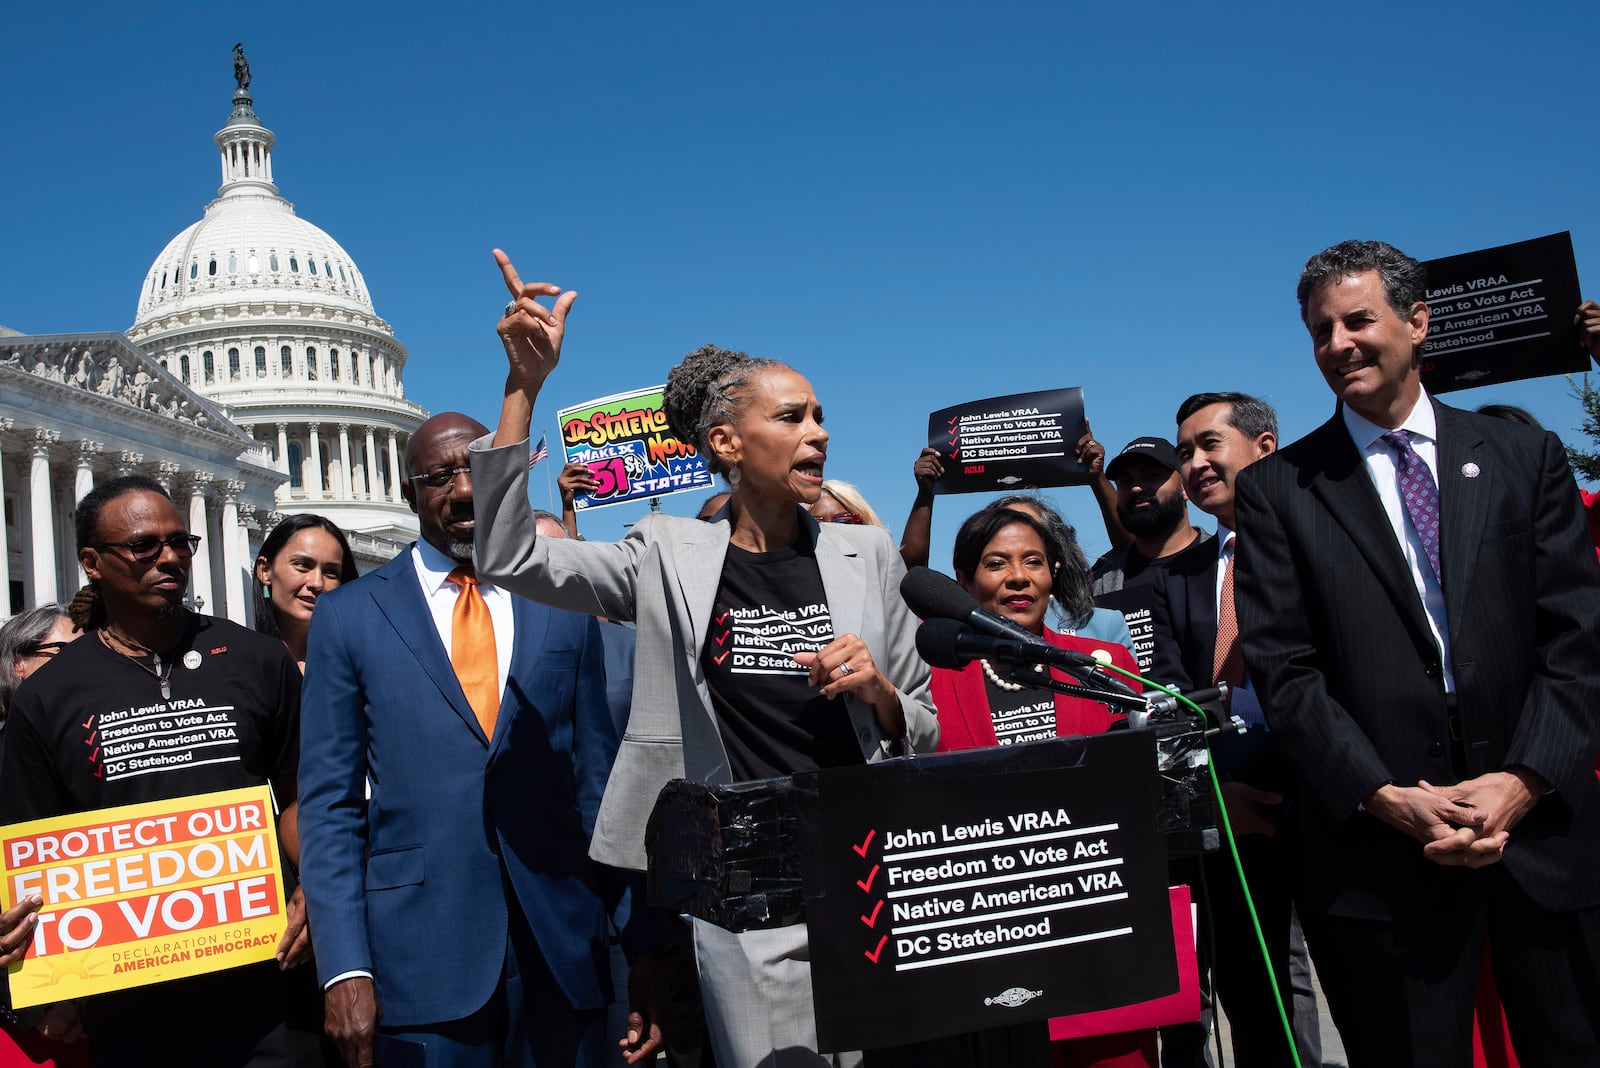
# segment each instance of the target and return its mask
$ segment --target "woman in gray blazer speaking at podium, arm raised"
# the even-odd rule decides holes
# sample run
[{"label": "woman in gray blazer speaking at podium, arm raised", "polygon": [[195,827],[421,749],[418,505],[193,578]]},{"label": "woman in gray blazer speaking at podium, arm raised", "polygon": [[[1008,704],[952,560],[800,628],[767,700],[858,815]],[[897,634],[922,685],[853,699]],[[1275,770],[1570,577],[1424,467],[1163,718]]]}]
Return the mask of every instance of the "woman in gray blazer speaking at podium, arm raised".
[{"label": "woman in gray blazer speaking at podium, arm raised", "polygon": [[[827,432],[794,368],[707,345],[667,376],[674,432],[733,488],[714,521],[651,516],[614,544],[534,536],[528,427],[578,294],[523,285],[494,257],[512,294],[498,328],[509,373],[493,440],[472,446],[478,574],[638,625],[632,711],[590,855],[643,868],[645,822],[669,779],[730,783],[931,751],[904,566],[886,531],[806,512]],[[694,945],[718,1065],[830,1063],[811,1052],[803,926],[730,934],[696,921]]]}]

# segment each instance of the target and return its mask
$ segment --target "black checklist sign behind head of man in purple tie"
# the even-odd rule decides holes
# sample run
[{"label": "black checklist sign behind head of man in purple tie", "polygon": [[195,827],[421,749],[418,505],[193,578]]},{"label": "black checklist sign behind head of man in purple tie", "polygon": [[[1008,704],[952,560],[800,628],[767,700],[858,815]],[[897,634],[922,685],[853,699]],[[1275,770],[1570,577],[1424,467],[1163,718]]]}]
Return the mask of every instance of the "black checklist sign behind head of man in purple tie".
[{"label": "black checklist sign behind head of man in purple tie", "polygon": [[1422,385],[1448,393],[1589,369],[1573,235],[1430,259]]}]

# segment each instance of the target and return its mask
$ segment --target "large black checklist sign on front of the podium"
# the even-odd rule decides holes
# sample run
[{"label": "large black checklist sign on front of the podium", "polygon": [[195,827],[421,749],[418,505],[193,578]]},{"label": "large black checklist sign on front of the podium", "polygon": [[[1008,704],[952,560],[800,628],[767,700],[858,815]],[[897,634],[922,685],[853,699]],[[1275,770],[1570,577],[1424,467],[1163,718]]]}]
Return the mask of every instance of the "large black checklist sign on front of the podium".
[{"label": "large black checklist sign on front of the podium", "polygon": [[800,860],[821,1049],[1174,993],[1154,767],[1139,731],[818,772]]}]

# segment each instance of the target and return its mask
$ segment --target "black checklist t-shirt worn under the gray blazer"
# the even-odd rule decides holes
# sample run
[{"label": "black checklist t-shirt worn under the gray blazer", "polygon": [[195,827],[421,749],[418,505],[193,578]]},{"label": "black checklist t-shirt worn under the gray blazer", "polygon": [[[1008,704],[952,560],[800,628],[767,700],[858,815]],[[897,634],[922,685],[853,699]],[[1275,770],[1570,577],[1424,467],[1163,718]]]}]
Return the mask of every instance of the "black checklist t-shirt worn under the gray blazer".
[{"label": "black checklist t-shirt worn under the gray blazer", "polygon": [[734,782],[864,761],[843,702],[822,697],[792,657],[832,640],[808,545],[728,545],[701,665]]}]

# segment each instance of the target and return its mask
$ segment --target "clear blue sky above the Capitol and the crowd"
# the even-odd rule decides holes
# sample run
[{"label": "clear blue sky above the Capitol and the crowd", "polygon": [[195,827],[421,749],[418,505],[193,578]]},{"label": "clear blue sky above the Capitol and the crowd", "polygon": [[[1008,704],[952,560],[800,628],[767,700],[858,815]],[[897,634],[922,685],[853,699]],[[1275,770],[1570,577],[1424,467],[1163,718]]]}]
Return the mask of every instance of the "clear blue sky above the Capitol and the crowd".
[{"label": "clear blue sky above the Capitol and the crowd", "polygon": [[[1114,449],[1206,389],[1307,432],[1333,401],[1294,280],[1338,240],[1571,230],[1600,293],[1594,0],[78,3],[6,37],[0,323],[128,328],[214,195],[242,40],[278,185],[360,264],[413,400],[493,424],[499,245],[581,293],[552,438],[707,341],[781,357],[896,529],[928,412],[970,398],[1082,385]],[[1579,419],[1562,379],[1454,400]],[[1101,552],[1088,491],[1053,496]],[[979,504],[939,502],[936,566]]]}]

